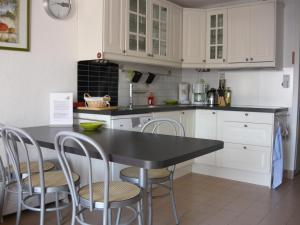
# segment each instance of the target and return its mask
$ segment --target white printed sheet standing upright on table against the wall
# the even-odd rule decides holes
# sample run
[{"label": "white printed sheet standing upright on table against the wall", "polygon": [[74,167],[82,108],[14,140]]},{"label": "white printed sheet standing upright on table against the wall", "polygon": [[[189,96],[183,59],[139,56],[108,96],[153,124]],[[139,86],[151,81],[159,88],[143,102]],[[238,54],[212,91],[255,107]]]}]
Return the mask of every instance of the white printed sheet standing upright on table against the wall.
[{"label": "white printed sheet standing upright on table against the wall", "polygon": [[73,125],[73,93],[50,93],[50,125]]}]

